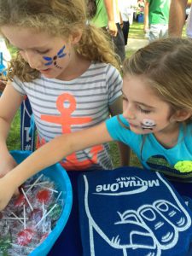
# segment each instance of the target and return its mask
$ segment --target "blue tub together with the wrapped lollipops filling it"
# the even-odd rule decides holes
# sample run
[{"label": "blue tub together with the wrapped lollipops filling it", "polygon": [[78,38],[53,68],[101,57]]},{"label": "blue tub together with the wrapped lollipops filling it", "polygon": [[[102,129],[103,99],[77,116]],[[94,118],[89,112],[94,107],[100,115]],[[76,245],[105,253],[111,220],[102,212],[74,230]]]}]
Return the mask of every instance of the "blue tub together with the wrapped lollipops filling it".
[{"label": "blue tub together with the wrapped lollipops filling it", "polygon": [[[12,153],[20,163],[30,152]],[[46,255],[67,223],[72,188],[56,164],[31,177],[0,212],[0,255]]]}]

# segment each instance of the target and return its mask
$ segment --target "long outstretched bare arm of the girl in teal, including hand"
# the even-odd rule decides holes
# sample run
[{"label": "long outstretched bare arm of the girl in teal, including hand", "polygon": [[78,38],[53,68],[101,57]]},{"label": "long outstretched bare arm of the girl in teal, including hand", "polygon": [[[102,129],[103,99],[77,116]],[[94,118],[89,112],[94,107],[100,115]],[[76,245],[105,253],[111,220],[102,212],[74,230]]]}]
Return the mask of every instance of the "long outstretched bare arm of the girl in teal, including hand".
[{"label": "long outstretched bare arm of the girl in teal, including hand", "polygon": [[0,178],[0,211],[7,206],[15,189],[27,178],[32,177],[45,167],[55,164],[68,154],[112,140],[105,123],[87,130],[55,137],[49,143],[38,148],[11,172]]}]

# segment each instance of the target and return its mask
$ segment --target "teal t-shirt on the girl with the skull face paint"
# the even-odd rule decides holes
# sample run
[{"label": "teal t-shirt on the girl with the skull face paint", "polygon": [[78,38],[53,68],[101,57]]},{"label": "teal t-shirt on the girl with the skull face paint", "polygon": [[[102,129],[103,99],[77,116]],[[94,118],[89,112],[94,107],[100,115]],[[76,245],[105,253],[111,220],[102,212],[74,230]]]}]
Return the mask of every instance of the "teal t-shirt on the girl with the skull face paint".
[{"label": "teal t-shirt on the girl with the skull face paint", "polygon": [[[123,115],[119,118],[126,127],[129,127]],[[153,133],[143,136],[132,132],[121,125],[117,117],[108,119],[106,125],[110,136],[129,145],[144,168],[163,172],[175,180],[192,180],[192,124],[180,125],[177,145],[173,148],[164,148]],[[183,163],[189,170],[184,169]]]}]

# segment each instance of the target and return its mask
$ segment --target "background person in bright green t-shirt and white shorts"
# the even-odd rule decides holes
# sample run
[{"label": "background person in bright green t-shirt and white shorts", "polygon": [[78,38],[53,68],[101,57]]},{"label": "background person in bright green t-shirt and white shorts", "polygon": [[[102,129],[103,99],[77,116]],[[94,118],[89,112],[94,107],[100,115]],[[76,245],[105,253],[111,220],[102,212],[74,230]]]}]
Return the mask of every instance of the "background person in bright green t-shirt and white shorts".
[{"label": "background person in bright green t-shirt and white shorts", "polygon": [[152,42],[168,36],[170,0],[145,0],[144,32]]}]

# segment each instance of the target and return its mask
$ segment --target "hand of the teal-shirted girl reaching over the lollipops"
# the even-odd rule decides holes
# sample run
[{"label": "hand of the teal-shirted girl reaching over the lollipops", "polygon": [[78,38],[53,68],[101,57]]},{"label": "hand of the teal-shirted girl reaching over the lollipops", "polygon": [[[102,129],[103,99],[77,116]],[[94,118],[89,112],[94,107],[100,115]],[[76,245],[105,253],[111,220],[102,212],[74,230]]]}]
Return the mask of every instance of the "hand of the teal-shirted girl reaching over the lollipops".
[{"label": "hand of the teal-shirted girl reaching over the lollipops", "polygon": [[6,175],[0,178],[0,212],[8,205],[17,189]]}]

